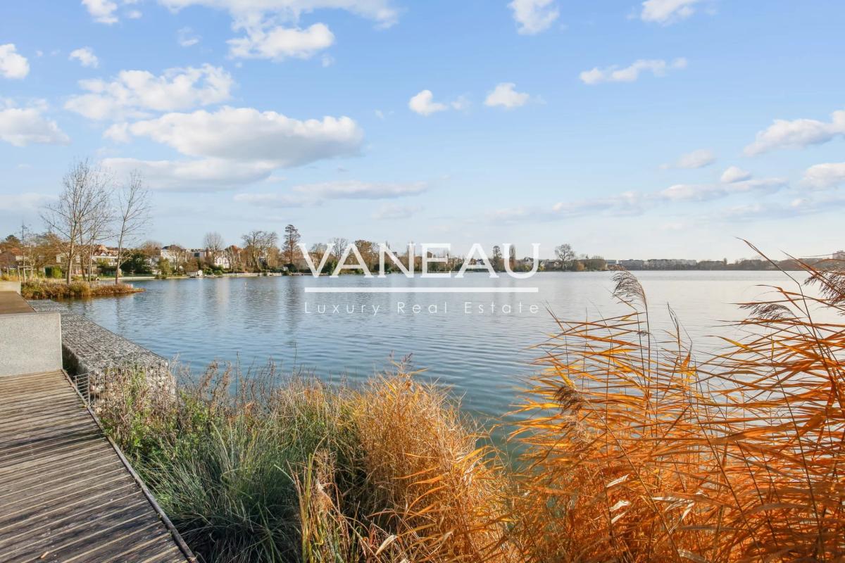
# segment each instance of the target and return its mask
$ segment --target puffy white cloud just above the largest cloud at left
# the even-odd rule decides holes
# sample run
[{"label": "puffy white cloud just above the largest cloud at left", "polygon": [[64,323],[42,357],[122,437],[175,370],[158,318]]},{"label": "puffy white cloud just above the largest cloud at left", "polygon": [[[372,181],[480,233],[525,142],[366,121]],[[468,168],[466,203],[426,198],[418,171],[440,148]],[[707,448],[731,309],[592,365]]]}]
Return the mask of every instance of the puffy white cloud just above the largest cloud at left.
[{"label": "puffy white cloud just above the largest cloud at left", "polygon": [[89,94],[72,96],[65,109],[90,119],[148,116],[147,111],[187,110],[228,100],[232,75],[209,64],[171,68],[161,76],[143,70],[123,70],[112,82],[81,80]]}]

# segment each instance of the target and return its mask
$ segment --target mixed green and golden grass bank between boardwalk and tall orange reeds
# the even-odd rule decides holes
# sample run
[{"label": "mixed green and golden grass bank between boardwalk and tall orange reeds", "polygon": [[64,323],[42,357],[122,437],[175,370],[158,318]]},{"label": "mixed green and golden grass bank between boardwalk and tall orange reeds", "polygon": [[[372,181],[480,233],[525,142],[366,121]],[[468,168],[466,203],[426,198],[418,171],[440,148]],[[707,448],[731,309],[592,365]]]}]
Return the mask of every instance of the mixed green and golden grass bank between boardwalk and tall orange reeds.
[{"label": "mixed green and golden grass bank between boardwalk and tall orange reeds", "polygon": [[356,390],[272,366],[212,366],[178,399],[123,387],[101,416],[206,561],[518,560],[497,546],[504,475],[401,370]]}]

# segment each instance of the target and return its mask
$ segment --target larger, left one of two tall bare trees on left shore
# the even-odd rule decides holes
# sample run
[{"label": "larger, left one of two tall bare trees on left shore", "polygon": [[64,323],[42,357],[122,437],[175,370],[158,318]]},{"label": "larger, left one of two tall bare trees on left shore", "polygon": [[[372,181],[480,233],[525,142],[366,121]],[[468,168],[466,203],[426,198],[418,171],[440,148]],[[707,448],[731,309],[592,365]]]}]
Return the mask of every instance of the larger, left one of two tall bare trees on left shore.
[{"label": "larger, left one of two tall bare trees on left shore", "polygon": [[63,176],[63,190],[57,201],[47,205],[41,214],[46,225],[63,238],[68,284],[80,246],[91,239],[92,232],[96,235],[103,228],[103,216],[111,208],[109,182],[99,167],[79,160]]}]

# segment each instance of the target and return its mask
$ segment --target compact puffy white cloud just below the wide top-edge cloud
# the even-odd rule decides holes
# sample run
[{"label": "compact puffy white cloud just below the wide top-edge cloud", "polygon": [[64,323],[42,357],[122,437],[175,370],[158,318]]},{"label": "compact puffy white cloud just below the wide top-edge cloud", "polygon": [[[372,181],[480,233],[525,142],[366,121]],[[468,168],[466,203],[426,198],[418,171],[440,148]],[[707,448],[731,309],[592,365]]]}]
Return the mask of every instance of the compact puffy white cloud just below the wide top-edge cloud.
[{"label": "compact puffy white cloud just below the wide top-edge cloud", "polygon": [[232,57],[283,61],[286,58],[311,58],[332,46],[335,35],[325,24],[313,24],[304,30],[278,25],[266,30],[250,27],[245,37],[227,42]]}]

